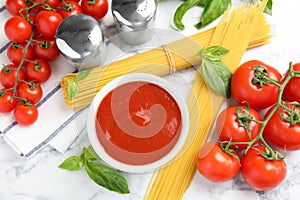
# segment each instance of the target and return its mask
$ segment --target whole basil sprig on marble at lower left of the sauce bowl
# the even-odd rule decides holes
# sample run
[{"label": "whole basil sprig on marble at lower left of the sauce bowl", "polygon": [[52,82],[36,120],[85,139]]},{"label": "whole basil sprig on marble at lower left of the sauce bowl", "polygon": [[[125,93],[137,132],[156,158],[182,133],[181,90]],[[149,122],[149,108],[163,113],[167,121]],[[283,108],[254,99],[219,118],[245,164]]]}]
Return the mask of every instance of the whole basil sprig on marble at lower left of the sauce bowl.
[{"label": "whole basil sprig on marble at lower left of the sauce bowl", "polygon": [[105,165],[93,148],[83,148],[80,157],[71,156],[59,166],[68,171],[78,171],[85,168],[88,176],[98,185],[121,194],[129,193],[128,183],[117,170]]}]

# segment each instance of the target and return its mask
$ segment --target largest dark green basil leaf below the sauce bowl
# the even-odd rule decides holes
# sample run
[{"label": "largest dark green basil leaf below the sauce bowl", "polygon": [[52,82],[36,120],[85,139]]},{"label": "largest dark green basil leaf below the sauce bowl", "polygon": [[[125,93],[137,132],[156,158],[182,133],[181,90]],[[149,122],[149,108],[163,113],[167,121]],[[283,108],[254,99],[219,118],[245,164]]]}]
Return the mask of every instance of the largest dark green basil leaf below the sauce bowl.
[{"label": "largest dark green basil leaf below the sauce bowl", "polygon": [[88,176],[98,185],[121,194],[129,193],[128,183],[117,170],[97,161],[86,161]]}]

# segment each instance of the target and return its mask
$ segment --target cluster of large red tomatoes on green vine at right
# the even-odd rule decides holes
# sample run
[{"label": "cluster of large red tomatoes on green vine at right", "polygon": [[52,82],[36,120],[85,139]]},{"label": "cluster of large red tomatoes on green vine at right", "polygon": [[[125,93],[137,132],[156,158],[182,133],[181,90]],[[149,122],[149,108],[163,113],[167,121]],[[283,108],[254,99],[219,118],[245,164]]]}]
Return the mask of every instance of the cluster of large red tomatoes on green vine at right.
[{"label": "cluster of large red tomatoes on green vine at right", "polygon": [[199,150],[200,174],[223,182],[240,172],[253,189],[278,186],[287,171],[285,153],[280,152],[300,149],[299,88],[300,63],[290,64],[284,76],[258,60],[239,66],[231,79],[232,97],[239,105],[217,116],[219,141]]}]

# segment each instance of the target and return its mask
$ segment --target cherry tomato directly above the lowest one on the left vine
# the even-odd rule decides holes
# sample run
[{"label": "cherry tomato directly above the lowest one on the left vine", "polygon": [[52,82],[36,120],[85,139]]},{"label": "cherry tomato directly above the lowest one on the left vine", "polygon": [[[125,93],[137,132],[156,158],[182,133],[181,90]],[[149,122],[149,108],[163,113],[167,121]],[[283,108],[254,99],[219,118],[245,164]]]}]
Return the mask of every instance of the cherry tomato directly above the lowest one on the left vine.
[{"label": "cherry tomato directly above the lowest one on the left vine", "polygon": [[18,88],[18,96],[27,102],[36,104],[43,97],[43,90],[39,84],[34,82],[22,83]]}]

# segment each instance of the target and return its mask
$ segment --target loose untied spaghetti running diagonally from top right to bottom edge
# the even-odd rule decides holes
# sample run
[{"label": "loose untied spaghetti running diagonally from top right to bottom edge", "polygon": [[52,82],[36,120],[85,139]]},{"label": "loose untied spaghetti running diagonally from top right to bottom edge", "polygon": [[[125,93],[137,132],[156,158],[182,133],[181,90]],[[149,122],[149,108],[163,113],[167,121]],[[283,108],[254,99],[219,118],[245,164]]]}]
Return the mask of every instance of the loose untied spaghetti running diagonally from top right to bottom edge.
[{"label": "loose untied spaghetti running diagonally from top right to bottom edge", "polygon": [[[262,18],[266,1],[261,4],[227,11],[217,26],[209,45],[221,45],[230,50],[222,60],[234,71],[250,42],[251,35]],[[228,18],[229,17],[229,18]],[[144,196],[146,200],[181,199],[196,171],[195,161],[201,145],[207,140],[213,121],[223,103],[223,98],[211,92],[198,73],[187,103],[190,111],[190,130],[187,150],[172,163],[153,173]],[[226,170],[226,169],[224,169]]]}]

